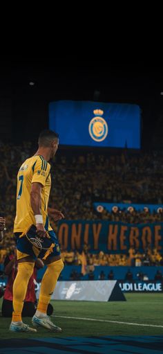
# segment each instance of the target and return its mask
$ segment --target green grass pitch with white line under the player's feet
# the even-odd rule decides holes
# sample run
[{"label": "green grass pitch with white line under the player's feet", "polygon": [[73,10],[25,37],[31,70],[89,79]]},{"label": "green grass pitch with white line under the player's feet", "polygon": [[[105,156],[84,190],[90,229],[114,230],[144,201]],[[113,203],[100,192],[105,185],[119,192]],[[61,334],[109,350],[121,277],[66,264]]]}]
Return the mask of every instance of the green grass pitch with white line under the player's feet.
[{"label": "green grass pitch with white line under the player's feet", "polygon": [[[46,328],[37,329],[35,335],[11,333],[8,329],[10,319],[0,315],[0,338],[163,335],[163,294],[125,294],[125,297],[127,301],[106,303],[52,301],[55,309],[52,321],[63,330],[59,334],[49,332]],[[75,317],[75,319],[64,317]],[[95,321],[88,321],[86,318]],[[25,317],[23,321],[31,325],[30,317]],[[140,326],[143,324],[151,326]]]}]

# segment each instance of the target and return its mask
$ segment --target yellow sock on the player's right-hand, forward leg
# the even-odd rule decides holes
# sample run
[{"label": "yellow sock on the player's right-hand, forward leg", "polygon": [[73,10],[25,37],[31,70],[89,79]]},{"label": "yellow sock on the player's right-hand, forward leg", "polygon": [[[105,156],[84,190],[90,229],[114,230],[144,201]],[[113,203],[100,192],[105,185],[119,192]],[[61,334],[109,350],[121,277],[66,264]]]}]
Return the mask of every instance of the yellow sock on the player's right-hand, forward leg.
[{"label": "yellow sock on the player's right-hand, forward leg", "polygon": [[39,303],[37,306],[37,312],[42,312],[46,314],[48,308],[48,303],[50,302],[50,297],[52,292],[55,290],[55,285],[61,270],[64,268],[64,263],[61,259],[56,260],[55,262],[50,263],[47,266],[44,277],[41,281],[41,289],[39,294]]}]

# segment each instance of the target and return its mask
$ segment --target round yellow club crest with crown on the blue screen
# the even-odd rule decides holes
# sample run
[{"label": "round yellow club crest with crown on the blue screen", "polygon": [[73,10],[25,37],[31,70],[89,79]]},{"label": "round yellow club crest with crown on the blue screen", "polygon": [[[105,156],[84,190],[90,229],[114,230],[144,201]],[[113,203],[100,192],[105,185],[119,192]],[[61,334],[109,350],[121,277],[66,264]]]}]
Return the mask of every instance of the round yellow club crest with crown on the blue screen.
[{"label": "round yellow club crest with crown on the blue screen", "polygon": [[102,117],[104,111],[102,109],[94,109],[93,113],[95,117],[91,119],[89,123],[89,134],[95,141],[103,141],[108,135],[108,124]]}]

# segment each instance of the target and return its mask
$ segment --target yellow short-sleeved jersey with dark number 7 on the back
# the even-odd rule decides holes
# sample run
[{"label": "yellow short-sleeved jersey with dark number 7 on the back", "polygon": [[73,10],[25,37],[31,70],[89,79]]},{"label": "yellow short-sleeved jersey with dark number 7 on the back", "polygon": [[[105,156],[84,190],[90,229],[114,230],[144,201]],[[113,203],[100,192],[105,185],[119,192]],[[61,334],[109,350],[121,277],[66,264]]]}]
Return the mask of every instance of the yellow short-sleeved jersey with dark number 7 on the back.
[{"label": "yellow short-sleeved jersey with dark number 7 on the back", "polygon": [[43,186],[41,189],[41,214],[46,230],[52,230],[47,211],[51,187],[50,163],[41,155],[35,155],[23,162],[17,175],[17,212],[14,232],[26,231],[31,224],[36,224],[30,204],[30,191],[33,182],[39,182]]}]

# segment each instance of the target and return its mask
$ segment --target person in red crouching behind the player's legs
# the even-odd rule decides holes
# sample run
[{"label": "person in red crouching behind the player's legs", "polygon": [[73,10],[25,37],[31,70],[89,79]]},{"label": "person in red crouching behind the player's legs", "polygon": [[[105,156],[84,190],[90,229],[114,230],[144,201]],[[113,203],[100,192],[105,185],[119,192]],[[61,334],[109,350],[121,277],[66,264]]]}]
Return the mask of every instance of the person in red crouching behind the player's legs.
[{"label": "person in red crouching behind the player's legs", "polygon": [[[35,262],[34,271],[32,276],[30,277],[30,281],[28,283],[28,288],[26,292],[26,298],[23,304],[23,316],[31,317],[35,314],[36,311],[36,294],[35,294],[35,283],[37,277],[37,269],[43,268],[44,263],[41,259],[37,259]],[[6,256],[4,261],[4,273],[8,276],[8,283],[6,284],[6,290],[3,296],[3,303],[2,303],[2,316],[3,317],[11,317],[12,316],[12,285],[15,281],[15,277],[17,275],[17,254],[15,245],[12,247],[12,251],[8,256]]]}]

